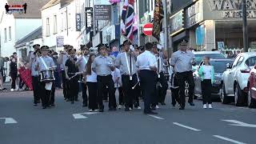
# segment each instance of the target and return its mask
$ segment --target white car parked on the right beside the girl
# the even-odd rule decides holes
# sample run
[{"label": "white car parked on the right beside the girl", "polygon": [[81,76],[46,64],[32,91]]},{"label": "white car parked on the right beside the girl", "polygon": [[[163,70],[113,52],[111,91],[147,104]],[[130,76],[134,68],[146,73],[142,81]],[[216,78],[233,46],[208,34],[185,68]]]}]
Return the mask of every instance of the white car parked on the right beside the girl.
[{"label": "white car parked on the right beside the girl", "polygon": [[256,52],[241,53],[234,59],[233,64],[227,65],[222,74],[220,98],[222,103],[234,102],[235,106],[247,104],[248,78],[250,70],[256,63]]}]

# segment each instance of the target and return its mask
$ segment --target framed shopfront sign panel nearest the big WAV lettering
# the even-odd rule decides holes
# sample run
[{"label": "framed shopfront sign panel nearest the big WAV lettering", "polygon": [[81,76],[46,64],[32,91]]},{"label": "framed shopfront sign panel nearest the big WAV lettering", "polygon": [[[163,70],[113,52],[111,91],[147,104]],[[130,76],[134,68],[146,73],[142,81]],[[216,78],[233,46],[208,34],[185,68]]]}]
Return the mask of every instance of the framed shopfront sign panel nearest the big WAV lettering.
[{"label": "framed shopfront sign panel nearest the big WAV lettering", "polygon": [[186,9],[186,27],[190,28],[198,22],[202,22],[202,0],[195,2],[194,5]]}]

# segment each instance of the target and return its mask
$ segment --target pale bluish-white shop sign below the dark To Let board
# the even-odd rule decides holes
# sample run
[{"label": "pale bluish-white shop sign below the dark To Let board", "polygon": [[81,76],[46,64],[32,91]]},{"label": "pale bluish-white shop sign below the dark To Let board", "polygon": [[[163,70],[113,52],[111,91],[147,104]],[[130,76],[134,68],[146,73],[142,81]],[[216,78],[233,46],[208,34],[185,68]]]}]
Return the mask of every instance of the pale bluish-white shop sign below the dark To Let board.
[{"label": "pale bluish-white shop sign below the dark To Let board", "polygon": [[112,25],[102,31],[102,43],[108,43],[115,39],[115,26]]}]

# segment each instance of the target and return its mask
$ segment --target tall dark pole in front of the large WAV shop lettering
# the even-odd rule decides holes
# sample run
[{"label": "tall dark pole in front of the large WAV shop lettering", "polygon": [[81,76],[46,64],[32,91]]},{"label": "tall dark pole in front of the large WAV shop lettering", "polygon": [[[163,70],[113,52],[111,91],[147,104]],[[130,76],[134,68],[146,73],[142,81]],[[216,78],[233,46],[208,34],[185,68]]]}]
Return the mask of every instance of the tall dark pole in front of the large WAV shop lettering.
[{"label": "tall dark pole in front of the large WAV shop lettering", "polygon": [[242,0],[243,51],[248,52],[246,0]]}]

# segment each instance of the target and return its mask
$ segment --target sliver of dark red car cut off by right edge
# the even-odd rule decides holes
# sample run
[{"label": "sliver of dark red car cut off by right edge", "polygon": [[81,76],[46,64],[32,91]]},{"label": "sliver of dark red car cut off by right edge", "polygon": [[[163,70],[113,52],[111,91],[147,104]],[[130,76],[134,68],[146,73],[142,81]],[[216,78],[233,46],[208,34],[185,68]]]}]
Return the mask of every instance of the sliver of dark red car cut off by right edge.
[{"label": "sliver of dark red car cut off by right edge", "polygon": [[256,65],[250,70],[250,77],[248,78],[248,106],[256,108]]}]

